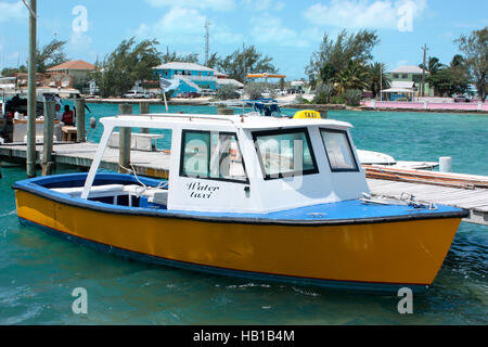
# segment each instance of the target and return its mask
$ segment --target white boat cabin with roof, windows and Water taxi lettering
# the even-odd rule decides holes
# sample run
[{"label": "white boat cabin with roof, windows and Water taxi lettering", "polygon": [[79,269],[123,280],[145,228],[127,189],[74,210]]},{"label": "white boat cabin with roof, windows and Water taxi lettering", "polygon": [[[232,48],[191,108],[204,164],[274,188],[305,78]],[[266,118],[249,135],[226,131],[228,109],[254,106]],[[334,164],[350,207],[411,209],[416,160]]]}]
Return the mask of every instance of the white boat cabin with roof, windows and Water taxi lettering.
[{"label": "white boat cabin with roof, windows and Water taxi lettering", "polygon": [[92,187],[94,177],[112,132],[123,127],[171,131],[168,187],[152,196],[168,210],[266,214],[369,192],[347,123],[179,114],[101,123],[104,132],[81,198],[102,189]]}]

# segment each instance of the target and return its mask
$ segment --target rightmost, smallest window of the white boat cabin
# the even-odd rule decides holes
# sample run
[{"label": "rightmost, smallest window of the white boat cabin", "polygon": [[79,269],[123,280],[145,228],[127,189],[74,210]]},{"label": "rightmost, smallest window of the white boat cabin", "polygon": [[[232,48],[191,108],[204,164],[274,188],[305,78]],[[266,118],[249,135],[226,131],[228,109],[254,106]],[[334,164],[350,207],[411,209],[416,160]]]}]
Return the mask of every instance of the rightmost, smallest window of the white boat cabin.
[{"label": "rightmost, smallest window of the white boat cabin", "polygon": [[346,131],[320,130],[333,172],[359,171]]}]

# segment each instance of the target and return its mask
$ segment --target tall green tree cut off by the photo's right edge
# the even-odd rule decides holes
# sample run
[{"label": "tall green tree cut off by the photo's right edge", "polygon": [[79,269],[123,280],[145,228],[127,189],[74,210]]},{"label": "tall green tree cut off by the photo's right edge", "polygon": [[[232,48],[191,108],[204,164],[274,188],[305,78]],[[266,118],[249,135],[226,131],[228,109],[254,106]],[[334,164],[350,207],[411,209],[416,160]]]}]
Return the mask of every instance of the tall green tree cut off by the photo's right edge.
[{"label": "tall green tree cut off by the photo's right edge", "polygon": [[475,81],[479,98],[485,102],[488,92],[488,26],[472,31],[470,36],[462,35],[454,42],[464,53],[466,67]]}]

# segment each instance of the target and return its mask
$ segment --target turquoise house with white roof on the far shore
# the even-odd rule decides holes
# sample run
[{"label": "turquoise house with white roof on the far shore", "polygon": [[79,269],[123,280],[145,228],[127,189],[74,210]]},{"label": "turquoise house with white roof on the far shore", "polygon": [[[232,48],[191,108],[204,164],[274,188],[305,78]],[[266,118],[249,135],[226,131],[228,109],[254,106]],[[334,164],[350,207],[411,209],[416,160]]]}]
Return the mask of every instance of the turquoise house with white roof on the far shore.
[{"label": "turquoise house with white roof on the far shore", "polygon": [[217,89],[217,77],[213,68],[195,63],[171,62],[153,67],[154,79],[178,79],[180,85],[174,95],[185,92],[202,92],[202,89]]}]

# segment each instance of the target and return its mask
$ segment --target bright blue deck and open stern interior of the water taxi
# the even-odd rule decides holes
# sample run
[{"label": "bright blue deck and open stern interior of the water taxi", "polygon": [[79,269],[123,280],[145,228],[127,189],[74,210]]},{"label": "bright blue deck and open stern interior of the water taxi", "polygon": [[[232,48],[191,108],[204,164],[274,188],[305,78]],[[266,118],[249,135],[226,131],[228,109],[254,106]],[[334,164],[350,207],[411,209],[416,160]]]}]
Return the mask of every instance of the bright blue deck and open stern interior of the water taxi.
[{"label": "bright blue deck and open stern interior of the water taxi", "polygon": [[[59,176],[38,177],[20,181],[14,184],[14,189],[27,191],[40,196],[49,196],[51,200],[66,203],[84,208],[104,210],[112,213],[124,213],[129,215],[154,215],[169,217],[191,217],[193,219],[211,221],[232,221],[244,223],[270,223],[270,224],[300,224],[300,226],[321,226],[321,224],[355,224],[355,223],[378,223],[396,222],[406,220],[423,220],[433,218],[459,218],[466,216],[466,211],[451,206],[436,206],[431,209],[429,206],[413,206],[407,202],[399,204],[391,203],[372,203],[360,200],[342,201],[337,203],[317,204],[303,206],[286,210],[271,213],[214,213],[197,210],[168,210],[166,206],[156,205],[153,207],[139,206],[132,204],[100,203],[98,193],[104,191],[107,196],[116,195],[117,191],[128,194],[133,190],[132,184],[138,181],[134,177],[119,174],[99,174],[97,175],[94,194],[90,200],[79,198],[76,191],[82,188],[86,180],[86,174],[67,174]],[[157,187],[160,181],[150,178],[140,178],[141,182],[147,187]],[[108,183],[108,184],[107,184]],[[114,184],[115,183],[115,184]],[[128,188],[124,190],[124,187]],[[138,187],[138,185],[136,185]],[[139,187],[142,188],[142,187]],[[166,189],[166,188],[165,188]],[[145,189],[142,189],[144,191]],[[157,190],[156,190],[157,191]],[[143,192],[133,191],[137,196],[142,196]],[[112,201],[112,200],[111,200]]]}]

